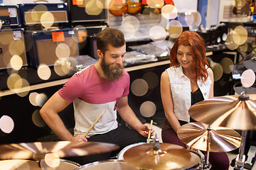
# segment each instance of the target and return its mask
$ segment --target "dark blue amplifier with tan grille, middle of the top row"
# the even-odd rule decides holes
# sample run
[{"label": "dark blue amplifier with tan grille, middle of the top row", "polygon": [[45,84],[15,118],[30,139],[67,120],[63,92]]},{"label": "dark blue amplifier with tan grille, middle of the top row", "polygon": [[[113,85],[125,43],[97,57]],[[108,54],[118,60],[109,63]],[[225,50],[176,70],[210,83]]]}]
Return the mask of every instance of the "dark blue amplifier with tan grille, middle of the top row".
[{"label": "dark blue amplifier with tan grille, middle of the top row", "polygon": [[68,23],[68,4],[20,4],[24,26]]}]

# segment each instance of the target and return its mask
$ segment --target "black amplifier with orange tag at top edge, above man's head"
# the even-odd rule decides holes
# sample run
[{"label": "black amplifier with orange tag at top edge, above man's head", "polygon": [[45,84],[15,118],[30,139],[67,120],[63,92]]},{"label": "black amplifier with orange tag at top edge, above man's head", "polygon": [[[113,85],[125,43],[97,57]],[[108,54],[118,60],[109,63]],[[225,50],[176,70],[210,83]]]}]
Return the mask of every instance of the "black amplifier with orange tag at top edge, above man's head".
[{"label": "black amplifier with orange tag at top edge, above man's head", "polygon": [[68,1],[68,10],[71,23],[107,21],[107,0],[65,1]]}]

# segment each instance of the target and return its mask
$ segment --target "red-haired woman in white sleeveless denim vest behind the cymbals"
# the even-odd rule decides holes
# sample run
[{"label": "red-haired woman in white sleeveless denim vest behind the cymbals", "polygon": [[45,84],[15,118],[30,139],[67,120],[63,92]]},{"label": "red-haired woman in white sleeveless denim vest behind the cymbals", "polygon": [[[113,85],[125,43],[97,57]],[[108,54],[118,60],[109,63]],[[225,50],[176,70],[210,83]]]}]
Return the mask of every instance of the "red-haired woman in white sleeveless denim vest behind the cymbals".
[{"label": "red-haired woman in white sleeveless denim vest behind the cymbals", "polygon": [[[177,136],[177,130],[193,122],[188,109],[195,103],[213,98],[213,71],[206,61],[203,38],[193,31],[184,31],[171,48],[171,64],[161,74],[161,99],[166,119],[162,127],[162,140],[186,146]],[[211,170],[229,168],[225,152],[210,152]]]}]

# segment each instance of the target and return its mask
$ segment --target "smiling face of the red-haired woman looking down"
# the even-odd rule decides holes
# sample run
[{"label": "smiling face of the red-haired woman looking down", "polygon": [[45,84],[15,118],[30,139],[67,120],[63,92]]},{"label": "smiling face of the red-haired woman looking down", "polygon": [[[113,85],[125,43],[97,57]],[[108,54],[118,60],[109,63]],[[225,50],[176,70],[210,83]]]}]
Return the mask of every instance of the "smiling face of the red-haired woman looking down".
[{"label": "smiling face of the red-haired woman looking down", "polygon": [[189,68],[192,66],[193,58],[190,45],[178,45],[177,48],[177,60],[183,68]]}]

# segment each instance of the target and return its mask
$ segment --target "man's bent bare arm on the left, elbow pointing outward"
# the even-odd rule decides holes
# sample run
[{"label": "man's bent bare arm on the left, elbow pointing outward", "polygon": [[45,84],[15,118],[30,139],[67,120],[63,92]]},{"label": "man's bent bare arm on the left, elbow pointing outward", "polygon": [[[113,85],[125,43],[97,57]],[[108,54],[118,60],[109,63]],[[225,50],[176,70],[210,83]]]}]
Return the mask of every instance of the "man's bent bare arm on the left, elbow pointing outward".
[{"label": "man's bent bare arm on the left, elbow pointing outward", "polygon": [[40,114],[43,120],[47,123],[53,132],[55,132],[61,140],[68,140],[68,141],[87,141],[85,137],[79,135],[77,137],[73,137],[70,132],[65,128],[63,121],[61,120],[58,113],[63,111],[68,105],[70,104],[69,101],[66,101],[58,92],[53,94],[50,99],[44,104],[44,106],[40,110]]}]

